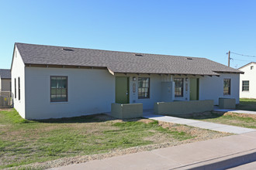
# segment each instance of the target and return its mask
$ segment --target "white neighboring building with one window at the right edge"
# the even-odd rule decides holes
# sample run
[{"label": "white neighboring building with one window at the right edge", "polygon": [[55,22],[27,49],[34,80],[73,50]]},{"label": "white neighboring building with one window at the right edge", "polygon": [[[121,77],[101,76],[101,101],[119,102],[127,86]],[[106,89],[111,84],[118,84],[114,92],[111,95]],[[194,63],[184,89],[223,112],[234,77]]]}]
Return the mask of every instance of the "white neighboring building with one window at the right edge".
[{"label": "white neighboring building with one window at the right edge", "polygon": [[241,66],[240,74],[240,98],[256,98],[256,63],[247,63]]}]

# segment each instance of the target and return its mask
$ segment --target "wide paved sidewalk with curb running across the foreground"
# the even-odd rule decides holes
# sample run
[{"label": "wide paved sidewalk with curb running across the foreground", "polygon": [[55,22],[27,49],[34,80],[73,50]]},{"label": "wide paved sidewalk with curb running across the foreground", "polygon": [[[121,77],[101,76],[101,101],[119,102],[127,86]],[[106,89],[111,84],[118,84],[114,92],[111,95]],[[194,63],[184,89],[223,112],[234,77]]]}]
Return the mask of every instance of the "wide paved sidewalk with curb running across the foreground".
[{"label": "wide paved sidewalk with curb running across the foreground", "polygon": [[224,169],[256,161],[256,132],[52,169]]}]

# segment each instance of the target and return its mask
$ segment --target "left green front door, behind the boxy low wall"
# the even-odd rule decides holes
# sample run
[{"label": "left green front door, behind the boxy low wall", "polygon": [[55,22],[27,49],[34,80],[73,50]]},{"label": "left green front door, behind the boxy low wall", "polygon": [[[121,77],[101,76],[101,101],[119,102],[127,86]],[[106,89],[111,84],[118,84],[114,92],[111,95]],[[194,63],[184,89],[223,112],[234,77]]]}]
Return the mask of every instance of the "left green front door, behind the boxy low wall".
[{"label": "left green front door, behind the boxy low wall", "polygon": [[129,104],[129,77],[116,76],[116,104]]}]

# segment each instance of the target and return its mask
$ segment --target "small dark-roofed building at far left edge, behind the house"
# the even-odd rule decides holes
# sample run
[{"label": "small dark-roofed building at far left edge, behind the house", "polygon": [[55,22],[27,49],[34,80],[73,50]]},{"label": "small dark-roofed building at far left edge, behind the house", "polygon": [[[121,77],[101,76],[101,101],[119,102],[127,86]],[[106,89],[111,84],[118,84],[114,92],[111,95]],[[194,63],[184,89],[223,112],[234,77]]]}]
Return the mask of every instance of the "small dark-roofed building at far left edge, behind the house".
[{"label": "small dark-roofed building at far left edge, behind the house", "polygon": [[11,94],[11,70],[0,69],[0,95]]}]

